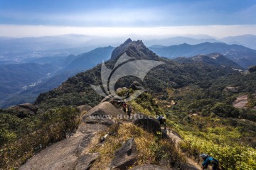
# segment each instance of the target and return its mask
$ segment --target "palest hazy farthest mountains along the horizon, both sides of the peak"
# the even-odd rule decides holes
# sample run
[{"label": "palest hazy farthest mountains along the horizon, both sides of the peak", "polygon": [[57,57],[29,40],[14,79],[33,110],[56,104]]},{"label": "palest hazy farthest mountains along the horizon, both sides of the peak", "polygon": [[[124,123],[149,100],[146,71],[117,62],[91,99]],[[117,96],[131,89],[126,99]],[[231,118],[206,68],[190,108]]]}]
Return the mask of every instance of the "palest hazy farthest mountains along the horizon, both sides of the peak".
[{"label": "palest hazy farthest mountains along the horizon, both sides of the peak", "polygon": [[[167,36],[161,38],[132,35],[132,37],[143,40],[146,46],[170,46],[183,43],[196,45],[203,42],[225,42],[227,44],[243,45],[256,50],[256,35],[240,35],[221,39],[208,35]],[[31,38],[0,37],[0,64],[20,63],[29,58],[79,55],[82,52],[88,52],[97,47],[117,46],[126,39],[124,37],[106,38],[75,34]]]}]

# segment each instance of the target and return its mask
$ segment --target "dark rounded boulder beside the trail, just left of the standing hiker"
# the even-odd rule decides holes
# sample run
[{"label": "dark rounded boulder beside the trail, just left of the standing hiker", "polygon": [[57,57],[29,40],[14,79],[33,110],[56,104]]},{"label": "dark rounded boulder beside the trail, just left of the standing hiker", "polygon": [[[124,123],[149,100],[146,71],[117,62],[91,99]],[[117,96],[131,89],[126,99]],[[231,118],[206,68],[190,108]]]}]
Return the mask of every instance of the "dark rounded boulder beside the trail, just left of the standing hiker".
[{"label": "dark rounded boulder beside the trail, just left of the standing hiker", "polygon": [[143,128],[147,132],[161,132],[161,125],[159,123],[159,120],[156,120],[155,118],[149,115],[137,113],[133,115],[133,119],[134,125]]}]

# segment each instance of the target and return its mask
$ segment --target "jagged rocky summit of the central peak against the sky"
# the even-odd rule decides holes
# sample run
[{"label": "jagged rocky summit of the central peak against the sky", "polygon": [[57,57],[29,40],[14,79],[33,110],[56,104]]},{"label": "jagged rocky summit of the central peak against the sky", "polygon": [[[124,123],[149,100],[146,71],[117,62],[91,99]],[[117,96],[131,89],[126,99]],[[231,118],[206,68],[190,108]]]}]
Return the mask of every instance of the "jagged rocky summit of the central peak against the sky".
[{"label": "jagged rocky summit of the central peak against the sky", "polygon": [[142,40],[132,41],[130,38],[127,39],[122,45],[114,49],[111,59],[117,60],[124,52],[126,52],[129,57],[137,59],[156,60],[158,58],[154,52],[143,44]]}]

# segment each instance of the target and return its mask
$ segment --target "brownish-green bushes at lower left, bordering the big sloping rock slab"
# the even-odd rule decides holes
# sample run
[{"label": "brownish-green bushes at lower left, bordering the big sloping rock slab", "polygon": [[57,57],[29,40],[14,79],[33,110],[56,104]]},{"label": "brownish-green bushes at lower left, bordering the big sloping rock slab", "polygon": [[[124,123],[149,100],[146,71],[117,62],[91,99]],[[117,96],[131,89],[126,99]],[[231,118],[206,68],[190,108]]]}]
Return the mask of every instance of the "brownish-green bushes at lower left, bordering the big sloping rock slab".
[{"label": "brownish-green bushes at lower left, bordering the big sloping rock slab", "polygon": [[5,122],[0,128],[0,169],[18,169],[36,152],[65,139],[79,123],[78,111],[71,107],[52,109],[22,120],[6,114],[1,118]]}]

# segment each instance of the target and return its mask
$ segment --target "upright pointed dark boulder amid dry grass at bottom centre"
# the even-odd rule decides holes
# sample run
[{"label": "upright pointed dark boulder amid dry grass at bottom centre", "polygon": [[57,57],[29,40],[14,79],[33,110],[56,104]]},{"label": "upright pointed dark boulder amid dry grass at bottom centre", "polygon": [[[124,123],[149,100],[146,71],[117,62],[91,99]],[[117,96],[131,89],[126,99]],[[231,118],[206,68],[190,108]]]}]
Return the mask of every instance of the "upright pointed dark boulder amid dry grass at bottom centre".
[{"label": "upright pointed dark boulder amid dry grass at bottom centre", "polygon": [[137,147],[134,138],[130,138],[114,154],[110,169],[128,169],[137,160]]}]

